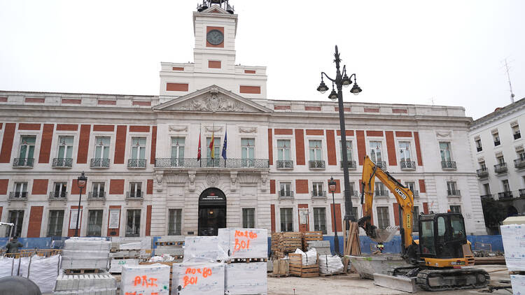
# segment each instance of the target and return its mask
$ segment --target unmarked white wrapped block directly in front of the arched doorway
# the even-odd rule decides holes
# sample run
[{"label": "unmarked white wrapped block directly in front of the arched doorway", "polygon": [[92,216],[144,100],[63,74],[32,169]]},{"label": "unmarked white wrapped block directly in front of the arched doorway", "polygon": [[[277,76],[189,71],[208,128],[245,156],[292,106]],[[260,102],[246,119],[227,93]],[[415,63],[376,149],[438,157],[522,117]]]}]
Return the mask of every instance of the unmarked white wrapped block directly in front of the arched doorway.
[{"label": "unmarked white wrapped block directly in front of the arched doorway", "polygon": [[217,261],[226,258],[219,247],[218,236],[187,236],[184,240],[184,262]]}]

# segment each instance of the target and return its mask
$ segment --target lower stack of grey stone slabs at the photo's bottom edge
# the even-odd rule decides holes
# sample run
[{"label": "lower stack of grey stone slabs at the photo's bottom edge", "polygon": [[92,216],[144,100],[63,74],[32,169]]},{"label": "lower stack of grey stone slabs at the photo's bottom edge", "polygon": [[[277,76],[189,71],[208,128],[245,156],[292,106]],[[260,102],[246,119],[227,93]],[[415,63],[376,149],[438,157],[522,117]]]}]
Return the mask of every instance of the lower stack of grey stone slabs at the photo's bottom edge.
[{"label": "lower stack of grey stone slabs at the photo's bottom edge", "polygon": [[116,295],[117,281],[109,273],[85,275],[60,274],[55,284],[55,295]]}]

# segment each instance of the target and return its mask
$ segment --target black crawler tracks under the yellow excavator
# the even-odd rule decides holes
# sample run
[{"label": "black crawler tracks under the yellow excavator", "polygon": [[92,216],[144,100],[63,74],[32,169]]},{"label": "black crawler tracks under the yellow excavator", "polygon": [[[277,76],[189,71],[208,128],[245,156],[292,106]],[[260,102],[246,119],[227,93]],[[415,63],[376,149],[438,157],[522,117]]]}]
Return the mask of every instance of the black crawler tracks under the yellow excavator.
[{"label": "black crawler tracks under the yellow excavator", "polygon": [[484,288],[489,281],[489,273],[479,268],[424,269],[416,278],[416,284],[426,291]]}]

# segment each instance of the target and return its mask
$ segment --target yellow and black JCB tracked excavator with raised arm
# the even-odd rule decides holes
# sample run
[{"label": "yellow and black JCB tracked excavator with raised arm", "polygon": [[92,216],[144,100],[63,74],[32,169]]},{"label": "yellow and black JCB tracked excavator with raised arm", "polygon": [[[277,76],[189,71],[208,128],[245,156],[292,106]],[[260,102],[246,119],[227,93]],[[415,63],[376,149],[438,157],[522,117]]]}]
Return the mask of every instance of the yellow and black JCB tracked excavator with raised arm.
[{"label": "yellow and black JCB tracked excavator with raised arm", "polygon": [[416,278],[416,284],[427,291],[483,288],[489,284],[489,273],[474,265],[467,240],[465,222],[460,213],[419,215],[419,240],[412,238],[414,194],[393,176],[377,166],[368,156],[363,162],[361,203],[363,217],[358,224],[372,240],[384,243],[397,228],[378,229],[372,224],[372,201],[375,178],[388,187],[399,204],[401,255],[411,266],[388,270],[388,275]]}]

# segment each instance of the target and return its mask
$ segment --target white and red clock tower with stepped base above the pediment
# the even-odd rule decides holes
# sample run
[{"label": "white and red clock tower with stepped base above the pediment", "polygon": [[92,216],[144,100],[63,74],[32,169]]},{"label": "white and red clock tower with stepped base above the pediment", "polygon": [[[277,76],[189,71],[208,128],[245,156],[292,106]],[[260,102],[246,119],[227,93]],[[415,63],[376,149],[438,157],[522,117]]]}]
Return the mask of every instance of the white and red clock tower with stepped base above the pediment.
[{"label": "white and red clock tower with stepped base above the pediment", "polygon": [[211,85],[267,103],[266,67],[235,64],[237,17],[228,0],[204,0],[197,6],[193,12],[194,62],[161,63],[160,103]]}]

